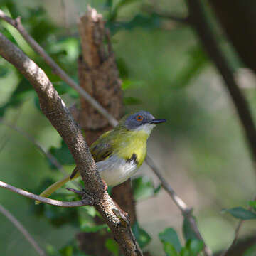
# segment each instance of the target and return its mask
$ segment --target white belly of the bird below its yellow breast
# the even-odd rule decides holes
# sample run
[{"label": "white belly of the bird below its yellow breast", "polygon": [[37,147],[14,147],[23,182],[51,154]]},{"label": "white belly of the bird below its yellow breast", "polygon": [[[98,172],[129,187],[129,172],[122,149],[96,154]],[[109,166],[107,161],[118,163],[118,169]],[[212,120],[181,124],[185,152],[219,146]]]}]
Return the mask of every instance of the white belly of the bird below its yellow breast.
[{"label": "white belly of the bird below its yellow breast", "polygon": [[134,161],[125,161],[117,156],[96,163],[100,177],[107,183],[107,186],[117,186],[137,171],[137,164]]}]

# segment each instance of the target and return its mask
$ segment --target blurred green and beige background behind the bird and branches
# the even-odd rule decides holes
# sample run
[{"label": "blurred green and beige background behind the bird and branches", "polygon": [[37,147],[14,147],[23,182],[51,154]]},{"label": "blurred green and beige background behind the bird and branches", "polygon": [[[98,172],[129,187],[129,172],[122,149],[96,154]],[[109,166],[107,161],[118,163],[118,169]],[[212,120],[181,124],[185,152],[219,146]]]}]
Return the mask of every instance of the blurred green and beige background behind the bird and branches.
[{"label": "blurred green and beige background behind the bird and branches", "polygon": [[[21,16],[36,41],[78,80],[80,42],[76,21],[86,11],[87,4],[102,12],[106,19],[110,18],[107,2],[110,1],[65,1],[64,9],[62,1],[9,0],[0,1],[0,7],[14,18]],[[255,172],[240,122],[220,75],[189,26],[144,11],[144,5],[152,2],[127,1],[118,11],[115,20],[118,26],[109,23],[123,80],[126,111],[148,110],[155,117],[168,120],[154,131],[148,152],[176,193],[193,206],[203,238],[213,251],[218,251],[228,247],[233,240],[238,222],[220,212],[223,208],[247,206],[247,201],[255,195]],[[181,16],[186,14],[183,1],[154,4],[164,11]],[[250,110],[255,114],[255,75],[238,60],[235,50],[216,24],[210,6],[204,2],[204,7],[250,102]],[[14,28],[1,21],[1,31],[46,71],[56,88],[70,92]],[[0,73],[1,118],[21,127],[46,149],[60,146],[58,133],[38,110],[36,95],[26,80],[2,58]],[[21,90],[17,90],[18,87]],[[78,101],[77,95],[72,93],[71,97],[63,95],[68,105]],[[1,181],[33,193],[41,191],[40,186],[46,178],[55,180],[62,176],[50,169],[47,159],[36,146],[1,123],[0,166]],[[72,168],[72,165],[65,166],[67,171]],[[159,184],[146,164],[140,174],[149,176],[155,186]],[[54,210],[46,210],[44,217],[36,216],[33,203],[15,193],[1,189],[0,202],[44,248],[53,246],[58,250],[78,233],[74,223],[59,227],[51,225],[49,220],[52,220]],[[152,255],[164,255],[157,235],[166,227],[174,227],[181,234],[182,216],[178,209],[161,190],[154,197],[137,201],[137,213],[140,226],[152,238],[147,249]],[[72,210],[68,214],[72,216]],[[255,220],[247,221],[240,235],[255,233],[255,224]],[[21,233],[1,214],[0,227],[1,255],[36,255]]]}]

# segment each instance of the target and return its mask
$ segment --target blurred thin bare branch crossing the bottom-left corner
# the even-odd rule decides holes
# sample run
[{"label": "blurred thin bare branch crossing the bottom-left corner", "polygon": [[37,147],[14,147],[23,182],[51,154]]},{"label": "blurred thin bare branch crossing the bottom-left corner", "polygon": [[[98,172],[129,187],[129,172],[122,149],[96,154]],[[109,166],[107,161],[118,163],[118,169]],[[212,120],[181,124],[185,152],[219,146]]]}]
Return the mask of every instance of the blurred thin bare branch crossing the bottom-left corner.
[{"label": "blurred thin bare branch crossing the bottom-left corner", "polygon": [[28,242],[34,247],[36,252],[38,252],[38,255],[40,256],[46,256],[46,252],[41,249],[41,247],[38,245],[38,243],[33,239],[30,233],[28,233],[28,230],[24,228],[24,226],[12,215],[9,210],[4,208],[4,206],[0,203],[0,212],[8,218],[11,223],[15,225],[15,227],[22,233],[22,235],[28,240]]}]

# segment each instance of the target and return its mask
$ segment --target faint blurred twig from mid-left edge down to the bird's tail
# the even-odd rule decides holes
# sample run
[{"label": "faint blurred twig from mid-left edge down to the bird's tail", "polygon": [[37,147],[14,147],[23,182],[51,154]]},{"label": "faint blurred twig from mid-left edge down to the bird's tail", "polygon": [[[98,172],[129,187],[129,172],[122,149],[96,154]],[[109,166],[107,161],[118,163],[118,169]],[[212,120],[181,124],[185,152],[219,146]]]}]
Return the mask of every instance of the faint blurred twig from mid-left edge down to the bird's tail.
[{"label": "faint blurred twig from mid-left edge down to the bird's tail", "polygon": [[[14,131],[18,132],[18,134],[21,134],[21,136],[23,136],[24,138],[28,139],[28,141],[30,141],[33,145],[35,145],[39,149],[39,151],[41,151],[48,158],[48,160],[50,161],[51,164],[53,164],[53,166],[55,166],[62,174],[67,175],[67,172],[63,169],[63,166],[53,156],[53,154],[50,154],[49,151],[44,149],[43,146],[41,146],[41,144],[39,144],[39,142],[37,142],[36,139],[33,138],[30,134],[25,132],[23,129],[16,127],[16,125],[14,124],[10,124],[9,122],[4,121],[4,119],[2,118],[0,118],[0,122],[6,125],[7,127],[13,129]],[[76,181],[70,181],[70,182],[72,182],[73,185],[76,186],[77,188],[81,188],[78,182]]]}]

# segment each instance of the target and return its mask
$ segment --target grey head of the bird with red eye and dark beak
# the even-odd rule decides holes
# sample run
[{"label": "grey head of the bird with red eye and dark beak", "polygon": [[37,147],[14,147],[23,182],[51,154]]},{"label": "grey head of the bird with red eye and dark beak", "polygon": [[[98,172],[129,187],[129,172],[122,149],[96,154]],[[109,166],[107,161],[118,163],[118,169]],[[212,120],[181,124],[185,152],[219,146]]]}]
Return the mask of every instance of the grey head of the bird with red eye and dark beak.
[{"label": "grey head of the bird with red eye and dark beak", "polygon": [[140,110],[139,112],[129,114],[123,119],[124,126],[129,130],[144,130],[150,134],[151,130],[165,119],[155,119],[152,114],[147,111]]}]

